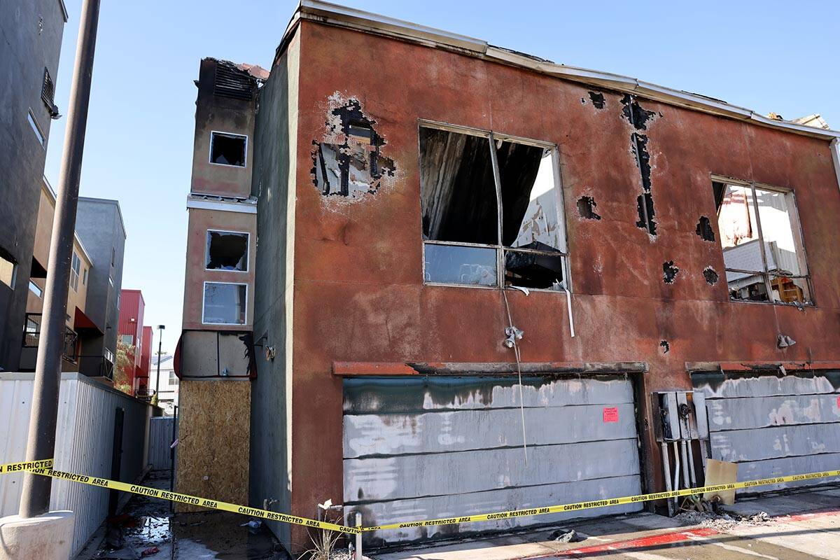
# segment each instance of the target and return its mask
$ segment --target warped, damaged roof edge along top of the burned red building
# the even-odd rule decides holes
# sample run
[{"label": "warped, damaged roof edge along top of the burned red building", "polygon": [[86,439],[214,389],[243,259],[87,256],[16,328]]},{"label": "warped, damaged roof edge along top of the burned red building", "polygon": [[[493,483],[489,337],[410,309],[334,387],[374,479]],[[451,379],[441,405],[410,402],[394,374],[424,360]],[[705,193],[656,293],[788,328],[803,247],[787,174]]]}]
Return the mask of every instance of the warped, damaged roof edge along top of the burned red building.
[{"label": "warped, damaged roof edge along top of the burned red building", "polygon": [[501,64],[528,68],[529,70],[542,74],[580,82],[589,86],[633,93],[634,95],[653,101],[743,120],[768,128],[777,128],[818,139],[830,140],[840,138],[840,132],[836,130],[813,128],[803,124],[791,123],[790,121],[777,121],[764,117],[751,109],[730,105],[727,102],[715,101],[711,97],[659,86],[630,76],[621,76],[610,72],[545,62],[538,60],[537,57],[521,55],[512,50],[491,46],[481,39],[449,33],[448,31],[433,29],[425,25],[412,24],[402,19],[388,18],[375,13],[339,6],[338,4],[321,2],[320,0],[301,0],[301,3],[298,4],[297,11],[292,16],[289,25],[286,27],[286,33],[283,35],[283,39],[277,47],[274,60],[275,64],[276,59],[286,50],[286,45],[297,30],[297,25],[301,19],[309,19],[322,24],[356,29],[366,33],[382,34],[396,39],[409,40],[446,50],[454,50],[461,54],[494,60]]}]

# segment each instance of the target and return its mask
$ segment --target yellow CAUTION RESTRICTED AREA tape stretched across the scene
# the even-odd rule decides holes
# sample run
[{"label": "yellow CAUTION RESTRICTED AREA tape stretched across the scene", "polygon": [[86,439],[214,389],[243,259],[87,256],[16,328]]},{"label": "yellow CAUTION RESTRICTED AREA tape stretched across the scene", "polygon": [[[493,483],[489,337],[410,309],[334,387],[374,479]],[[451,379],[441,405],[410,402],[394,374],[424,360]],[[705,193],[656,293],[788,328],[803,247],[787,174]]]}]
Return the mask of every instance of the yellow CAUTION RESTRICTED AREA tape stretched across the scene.
[{"label": "yellow CAUTION RESTRICTED AREA tape stretched across the scene", "polygon": [[178,492],[170,492],[168,490],[150,488],[149,486],[140,486],[139,484],[129,484],[126,482],[118,482],[116,480],[101,479],[98,477],[87,476],[85,474],[65,473],[47,467],[48,464],[49,467],[51,467],[52,459],[45,459],[43,461],[29,461],[24,463],[8,463],[0,465],[0,473],[19,472],[28,470],[34,474],[51,476],[55,479],[69,480],[71,482],[79,482],[81,484],[90,484],[99,488],[108,488],[113,490],[119,490],[121,492],[129,492],[130,494],[150,496],[151,498],[159,498],[160,500],[170,500],[174,502],[179,502],[181,504],[197,505],[212,510],[231,511],[233,513],[243,514],[245,516],[260,517],[260,519],[265,519],[268,521],[280,521],[281,523],[290,523],[292,525],[315,527],[318,529],[329,529],[331,531],[340,531],[351,534],[356,534],[362,531],[387,531],[391,529],[406,529],[408,527],[453,525],[455,523],[470,523],[474,521],[496,521],[499,519],[510,519],[512,517],[543,516],[549,513],[590,510],[592,508],[609,507],[611,505],[636,504],[639,502],[646,502],[652,500],[665,500],[669,498],[678,498],[680,496],[705,494],[706,492],[722,492],[726,490],[737,490],[743,488],[754,488],[756,486],[766,486],[769,484],[781,484],[784,482],[800,482],[803,480],[825,479],[828,477],[840,476],[840,470],[822,471],[819,473],[809,474],[791,474],[790,476],[779,476],[771,479],[747,480],[744,482],[733,482],[730,484],[715,484],[711,486],[700,486],[697,488],[672,490],[670,492],[654,492],[652,494],[624,496],[623,498],[611,498],[609,500],[593,500],[586,502],[575,502],[574,504],[549,505],[545,507],[531,508],[527,510],[496,511],[495,513],[483,513],[476,516],[447,517],[443,519],[432,519],[426,521],[408,521],[404,523],[390,523],[388,525],[377,525],[370,527],[349,527],[339,525],[337,523],[329,523],[328,521],[317,521],[314,519],[307,519],[306,517],[288,516],[284,513],[277,513],[276,511],[269,510],[260,510],[259,508],[253,508],[246,505],[236,505],[218,500],[208,500],[207,498],[199,498],[197,496],[191,496],[188,494],[180,494]]}]

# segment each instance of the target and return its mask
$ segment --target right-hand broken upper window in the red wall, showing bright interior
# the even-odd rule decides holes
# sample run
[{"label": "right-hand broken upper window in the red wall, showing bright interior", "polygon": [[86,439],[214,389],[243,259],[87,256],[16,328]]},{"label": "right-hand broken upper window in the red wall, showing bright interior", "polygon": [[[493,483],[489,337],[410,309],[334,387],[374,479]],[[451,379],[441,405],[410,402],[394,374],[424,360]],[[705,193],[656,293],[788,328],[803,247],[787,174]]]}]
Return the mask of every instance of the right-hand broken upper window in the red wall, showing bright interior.
[{"label": "right-hand broken upper window in the red wall, showing bright interior", "polygon": [[730,299],[811,303],[793,192],[731,180],[712,189]]}]

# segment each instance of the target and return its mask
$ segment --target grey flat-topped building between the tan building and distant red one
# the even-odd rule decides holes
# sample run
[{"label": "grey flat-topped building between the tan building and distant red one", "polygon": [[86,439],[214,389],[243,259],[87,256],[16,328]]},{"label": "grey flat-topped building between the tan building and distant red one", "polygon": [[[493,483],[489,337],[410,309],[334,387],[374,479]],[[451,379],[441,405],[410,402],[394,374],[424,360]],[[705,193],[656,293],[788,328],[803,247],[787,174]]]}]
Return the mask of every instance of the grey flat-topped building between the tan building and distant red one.
[{"label": "grey flat-topped building between the tan building and distant red one", "polygon": [[91,377],[113,379],[125,250],[125,225],[119,202],[80,196],[76,234],[92,259],[87,280],[87,317],[102,332],[82,341],[79,371]]}]

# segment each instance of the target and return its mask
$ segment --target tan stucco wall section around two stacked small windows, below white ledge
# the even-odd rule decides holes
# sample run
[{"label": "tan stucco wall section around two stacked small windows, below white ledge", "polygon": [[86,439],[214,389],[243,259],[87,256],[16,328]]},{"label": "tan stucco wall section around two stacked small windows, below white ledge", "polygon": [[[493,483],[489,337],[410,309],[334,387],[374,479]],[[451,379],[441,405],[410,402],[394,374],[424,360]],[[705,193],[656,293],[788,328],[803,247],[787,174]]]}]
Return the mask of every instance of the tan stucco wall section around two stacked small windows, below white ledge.
[{"label": "tan stucco wall section around two stacked small windows, below white ledge", "polygon": [[[225,331],[249,331],[254,317],[254,276],[256,264],[256,215],[242,212],[220,212],[189,208],[189,228],[186,238],[186,277],[184,290],[184,328]],[[248,271],[205,270],[207,261],[207,230],[249,233]],[[204,282],[229,282],[248,285],[248,309],[244,325],[204,325],[202,305]]]}]

